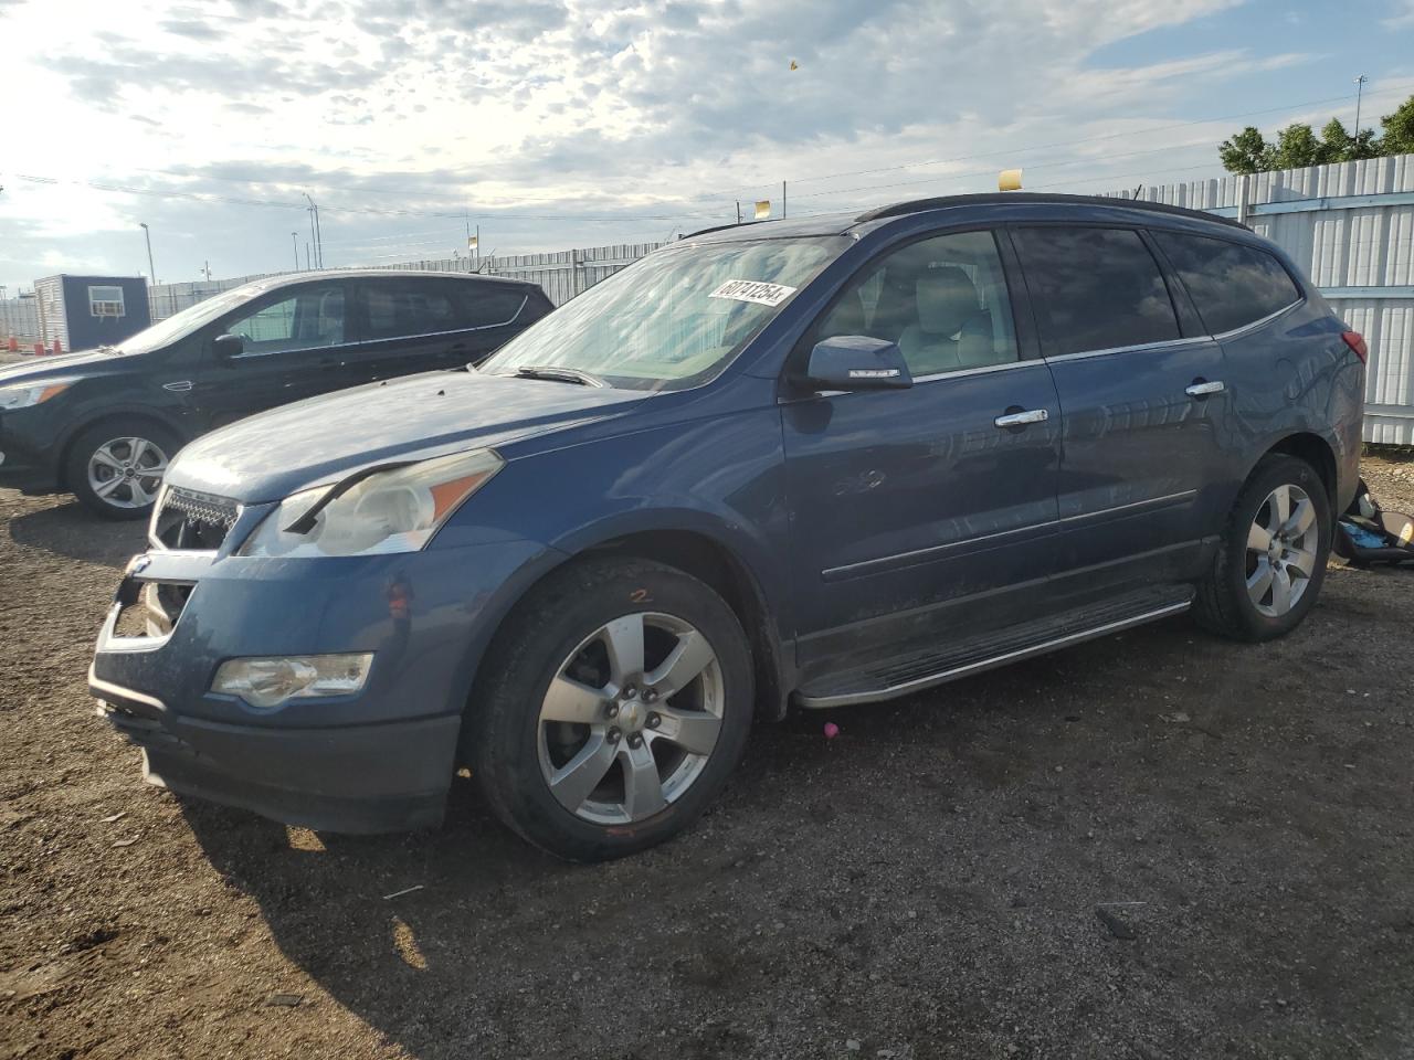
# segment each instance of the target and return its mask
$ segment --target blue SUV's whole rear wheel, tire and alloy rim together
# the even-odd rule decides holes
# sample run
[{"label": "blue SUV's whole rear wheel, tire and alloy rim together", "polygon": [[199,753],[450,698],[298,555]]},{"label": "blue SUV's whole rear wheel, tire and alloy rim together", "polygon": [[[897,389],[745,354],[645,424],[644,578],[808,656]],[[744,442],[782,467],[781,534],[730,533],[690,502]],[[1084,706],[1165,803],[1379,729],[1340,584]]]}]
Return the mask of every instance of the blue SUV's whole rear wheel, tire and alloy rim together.
[{"label": "blue SUV's whole rear wheel, tire and alloy rim together", "polygon": [[[1282,495],[1285,522],[1277,510]],[[1267,540],[1271,530],[1278,533]],[[1212,572],[1198,585],[1198,623],[1234,640],[1285,636],[1315,606],[1332,536],[1331,497],[1315,468],[1297,457],[1264,457],[1227,516]]]}]

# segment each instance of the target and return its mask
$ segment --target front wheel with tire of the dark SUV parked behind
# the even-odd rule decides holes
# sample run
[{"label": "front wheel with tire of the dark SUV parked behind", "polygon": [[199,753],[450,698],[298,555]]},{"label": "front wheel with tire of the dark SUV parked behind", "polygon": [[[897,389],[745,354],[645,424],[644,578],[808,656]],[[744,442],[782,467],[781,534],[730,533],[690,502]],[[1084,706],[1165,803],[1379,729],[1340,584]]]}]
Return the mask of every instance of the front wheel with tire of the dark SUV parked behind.
[{"label": "front wheel with tire of the dark SUV parked behind", "polygon": [[65,482],[85,507],[105,519],[147,519],[180,447],[175,434],[151,420],[105,420],[83,428],[69,445]]}]

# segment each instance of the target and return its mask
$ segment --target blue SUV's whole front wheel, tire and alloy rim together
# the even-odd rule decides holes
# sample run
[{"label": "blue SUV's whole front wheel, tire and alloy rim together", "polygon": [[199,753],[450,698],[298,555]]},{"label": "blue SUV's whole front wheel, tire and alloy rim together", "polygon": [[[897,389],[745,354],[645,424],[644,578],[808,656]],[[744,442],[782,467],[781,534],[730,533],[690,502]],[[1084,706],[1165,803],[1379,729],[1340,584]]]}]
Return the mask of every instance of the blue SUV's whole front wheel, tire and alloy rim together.
[{"label": "blue SUV's whole front wheel, tire and alloy rim together", "polygon": [[[677,666],[665,666],[673,652]],[[573,563],[518,605],[486,659],[495,670],[467,719],[472,775],[505,824],[567,861],[622,858],[676,835],[745,749],[747,636],[717,592],[676,568]]]}]

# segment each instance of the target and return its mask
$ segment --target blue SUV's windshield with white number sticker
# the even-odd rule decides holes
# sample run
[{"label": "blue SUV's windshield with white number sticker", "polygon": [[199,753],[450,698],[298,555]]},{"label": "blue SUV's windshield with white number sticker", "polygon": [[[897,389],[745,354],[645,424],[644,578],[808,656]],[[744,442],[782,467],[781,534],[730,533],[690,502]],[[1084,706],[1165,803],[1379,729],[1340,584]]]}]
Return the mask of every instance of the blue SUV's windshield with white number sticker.
[{"label": "blue SUV's windshield with white number sticker", "polygon": [[822,236],[656,250],[518,335],[481,370],[551,377],[560,369],[633,390],[700,386],[848,245]]}]

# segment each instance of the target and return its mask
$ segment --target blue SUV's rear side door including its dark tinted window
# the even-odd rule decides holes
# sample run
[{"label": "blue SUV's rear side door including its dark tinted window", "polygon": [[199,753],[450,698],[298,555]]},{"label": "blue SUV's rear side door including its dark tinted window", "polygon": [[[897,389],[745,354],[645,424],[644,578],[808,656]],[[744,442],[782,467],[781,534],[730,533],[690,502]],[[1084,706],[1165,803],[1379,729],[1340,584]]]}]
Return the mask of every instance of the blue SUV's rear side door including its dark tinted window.
[{"label": "blue SUV's rear side door including its dark tinted window", "polygon": [[1089,589],[1191,577],[1215,526],[1222,348],[1181,325],[1196,317],[1140,230],[1012,235],[1065,418],[1059,571]]}]

